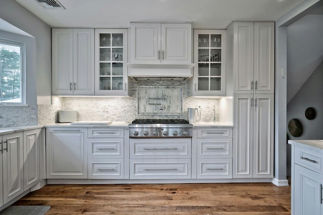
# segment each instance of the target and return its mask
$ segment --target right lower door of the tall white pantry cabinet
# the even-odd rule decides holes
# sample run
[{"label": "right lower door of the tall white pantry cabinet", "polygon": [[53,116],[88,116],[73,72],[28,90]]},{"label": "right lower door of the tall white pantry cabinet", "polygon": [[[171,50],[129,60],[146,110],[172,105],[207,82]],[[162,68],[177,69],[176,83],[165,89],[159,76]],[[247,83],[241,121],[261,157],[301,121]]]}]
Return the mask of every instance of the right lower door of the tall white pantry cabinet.
[{"label": "right lower door of the tall white pantry cabinet", "polygon": [[274,177],[274,95],[257,95],[253,108],[253,177]]}]

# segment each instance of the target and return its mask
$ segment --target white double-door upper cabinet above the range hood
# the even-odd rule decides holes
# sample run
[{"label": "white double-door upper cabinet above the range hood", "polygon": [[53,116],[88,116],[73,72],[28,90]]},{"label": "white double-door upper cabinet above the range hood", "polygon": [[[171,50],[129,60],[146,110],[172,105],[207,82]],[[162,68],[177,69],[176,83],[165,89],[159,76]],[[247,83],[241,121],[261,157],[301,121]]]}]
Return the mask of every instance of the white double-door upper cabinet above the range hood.
[{"label": "white double-door upper cabinet above the range hood", "polygon": [[190,23],[131,23],[132,64],[190,64]]}]

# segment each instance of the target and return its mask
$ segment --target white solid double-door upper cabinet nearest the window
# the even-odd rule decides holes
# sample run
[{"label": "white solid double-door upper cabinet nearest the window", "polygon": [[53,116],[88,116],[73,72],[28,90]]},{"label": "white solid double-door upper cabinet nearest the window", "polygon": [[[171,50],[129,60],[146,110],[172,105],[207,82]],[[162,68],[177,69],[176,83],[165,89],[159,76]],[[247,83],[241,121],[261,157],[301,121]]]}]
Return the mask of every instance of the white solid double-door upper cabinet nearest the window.
[{"label": "white solid double-door upper cabinet nearest the window", "polygon": [[52,94],[94,94],[94,29],[52,29]]}]

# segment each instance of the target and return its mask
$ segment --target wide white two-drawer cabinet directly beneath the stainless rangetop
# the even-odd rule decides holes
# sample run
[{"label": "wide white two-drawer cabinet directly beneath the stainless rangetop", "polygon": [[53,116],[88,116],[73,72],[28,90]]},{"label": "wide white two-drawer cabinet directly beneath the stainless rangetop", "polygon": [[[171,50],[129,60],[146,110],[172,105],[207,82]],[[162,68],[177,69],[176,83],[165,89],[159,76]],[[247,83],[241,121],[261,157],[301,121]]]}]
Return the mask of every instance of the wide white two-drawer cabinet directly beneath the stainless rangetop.
[{"label": "wide white two-drawer cabinet directly beneath the stainless rangetop", "polygon": [[130,179],[190,179],[190,138],[130,139]]}]

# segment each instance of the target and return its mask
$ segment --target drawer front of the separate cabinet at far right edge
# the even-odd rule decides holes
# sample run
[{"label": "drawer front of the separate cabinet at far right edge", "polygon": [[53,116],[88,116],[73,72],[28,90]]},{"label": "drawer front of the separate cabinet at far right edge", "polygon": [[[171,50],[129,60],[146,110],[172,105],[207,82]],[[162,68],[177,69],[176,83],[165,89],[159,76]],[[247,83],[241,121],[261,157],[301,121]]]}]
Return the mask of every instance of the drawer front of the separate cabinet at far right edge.
[{"label": "drawer front of the separate cabinet at far right edge", "polygon": [[320,174],[323,174],[322,156],[315,151],[295,147],[295,163]]}]

